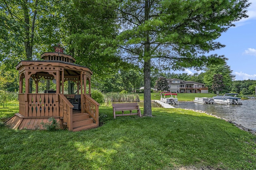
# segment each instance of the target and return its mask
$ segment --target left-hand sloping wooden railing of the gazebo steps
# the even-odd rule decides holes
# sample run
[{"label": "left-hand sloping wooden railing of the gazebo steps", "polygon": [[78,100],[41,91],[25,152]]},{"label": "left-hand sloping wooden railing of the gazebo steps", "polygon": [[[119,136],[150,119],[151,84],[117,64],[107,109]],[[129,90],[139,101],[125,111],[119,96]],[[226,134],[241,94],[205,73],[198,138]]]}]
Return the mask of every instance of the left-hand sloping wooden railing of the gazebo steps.
[{"label": "left-hand sloping wooden railing of the gazebo steps", "polygon": [[63,117],[63,122],[67,123],[68,130],[73,130],[72,117],[73,117],[73,105],[68,101],[68,99],[63,95],[59,94],[60,98],[60,117]]}]

